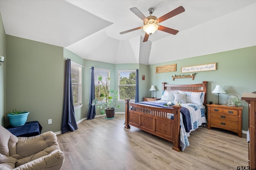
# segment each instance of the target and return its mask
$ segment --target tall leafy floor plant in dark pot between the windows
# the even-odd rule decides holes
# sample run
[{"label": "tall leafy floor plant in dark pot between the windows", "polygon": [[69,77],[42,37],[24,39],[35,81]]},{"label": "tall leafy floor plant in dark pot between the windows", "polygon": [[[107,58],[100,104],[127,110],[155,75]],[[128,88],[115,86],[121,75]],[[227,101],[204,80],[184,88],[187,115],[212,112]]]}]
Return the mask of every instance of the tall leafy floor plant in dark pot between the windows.
[{"label": "tall leafy floor plant in dark pot between the windows", "polygon": [[[119,105],[115,104],[113,97],[111,95],[113,95],[115,98],[118,98],[118,92],[108,89],[108,86],[102,81],[102,76],[99,76],[98,80],[99,83],[101,83],[98,90],[100,90],[101,87],[103,88],[102,92],[100,92],[100,98],[104,97],[104,102],[102,102],[102,106],[104,106],[102,108],[104,109],[102,109],[100,113],[102,115],[106,113],[107,119],[113,119],[115,116],[115,109],[116,107],[119,107]],[[108,80],[110,80],[109,77]],[[98,99],[92,100],[92,106],[95,106],[96,104],[98,104],[98,102]],[[100,106],[97,106],[97,108],[100,108]]]}]

